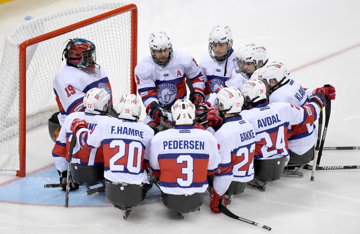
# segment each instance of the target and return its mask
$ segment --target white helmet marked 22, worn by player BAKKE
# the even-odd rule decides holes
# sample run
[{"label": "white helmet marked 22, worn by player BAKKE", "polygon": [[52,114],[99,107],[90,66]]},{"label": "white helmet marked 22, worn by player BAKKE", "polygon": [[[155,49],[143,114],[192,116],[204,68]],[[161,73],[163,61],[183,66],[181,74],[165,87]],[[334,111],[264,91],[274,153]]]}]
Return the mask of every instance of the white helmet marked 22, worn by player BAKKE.
[{"label": "white helmet marked 22, worn by player BAKKE", "polygon": [[234,87],[222,88],[215,99],[215,106],[219,108],[222,114],[238,113],[244,104],[244,96]]}]

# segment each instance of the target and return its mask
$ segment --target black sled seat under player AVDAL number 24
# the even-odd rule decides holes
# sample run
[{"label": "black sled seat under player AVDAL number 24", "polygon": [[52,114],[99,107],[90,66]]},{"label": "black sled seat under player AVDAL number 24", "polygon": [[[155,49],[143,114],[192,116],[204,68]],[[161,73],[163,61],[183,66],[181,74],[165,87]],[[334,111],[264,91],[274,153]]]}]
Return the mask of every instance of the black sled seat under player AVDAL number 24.
[{"label": "black sled seat under player AVDAL number 24", "polygon": [[283,174],[285,157],[279,159],[254,159],[254,177],[262,181],[278,180]]}]

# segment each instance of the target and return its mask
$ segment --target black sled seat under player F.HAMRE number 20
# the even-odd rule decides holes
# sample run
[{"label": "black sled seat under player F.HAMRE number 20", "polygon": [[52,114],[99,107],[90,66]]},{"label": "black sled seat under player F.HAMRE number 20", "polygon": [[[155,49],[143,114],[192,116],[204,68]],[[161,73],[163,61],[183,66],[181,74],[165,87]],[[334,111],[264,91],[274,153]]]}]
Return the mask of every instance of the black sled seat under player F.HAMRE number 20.
[{"label": "black sled seat under player F.HAMRE number 20", "polygon": [[105,179],[105,196],[115,207],[131,208],[144,201],[147,184],[116,183]]}]

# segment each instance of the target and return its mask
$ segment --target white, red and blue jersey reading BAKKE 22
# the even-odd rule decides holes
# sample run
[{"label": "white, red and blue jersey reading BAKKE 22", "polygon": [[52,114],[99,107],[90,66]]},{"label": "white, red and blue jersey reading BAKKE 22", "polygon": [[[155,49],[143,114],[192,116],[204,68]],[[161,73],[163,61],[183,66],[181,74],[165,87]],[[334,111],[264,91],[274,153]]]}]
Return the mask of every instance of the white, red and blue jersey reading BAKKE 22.
[{"label": "white, red and blue jersey reading BAKKE 22", "polygon": [[[225,119],[214,136],[221,155],[221,170],[226,170],[231,165],[233,181],[248,182],[252,180],[254,178],[256,140],[252,125],[241,115],[231,117]],[[216,188],[218,177],[220,176],[217,175],[214,178],[214,188]],[[221,182],[221,184],[225,183]],[[225,191],[228,187],[225,188]]]}]

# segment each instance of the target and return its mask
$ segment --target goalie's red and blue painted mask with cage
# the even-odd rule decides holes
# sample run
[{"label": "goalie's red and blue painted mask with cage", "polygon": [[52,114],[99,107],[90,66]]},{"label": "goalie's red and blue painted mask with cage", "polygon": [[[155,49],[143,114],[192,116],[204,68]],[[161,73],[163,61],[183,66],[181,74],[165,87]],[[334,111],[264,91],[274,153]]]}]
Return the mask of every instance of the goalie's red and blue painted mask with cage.
[{"label": "goalie's red and blue painted mask with cage", "polygon": [[63,55],[68,63],[81,71],[93,77],[100,77],[100,66],[96,66],[96,51],[93,42],[74,38],[67,43]]}]

